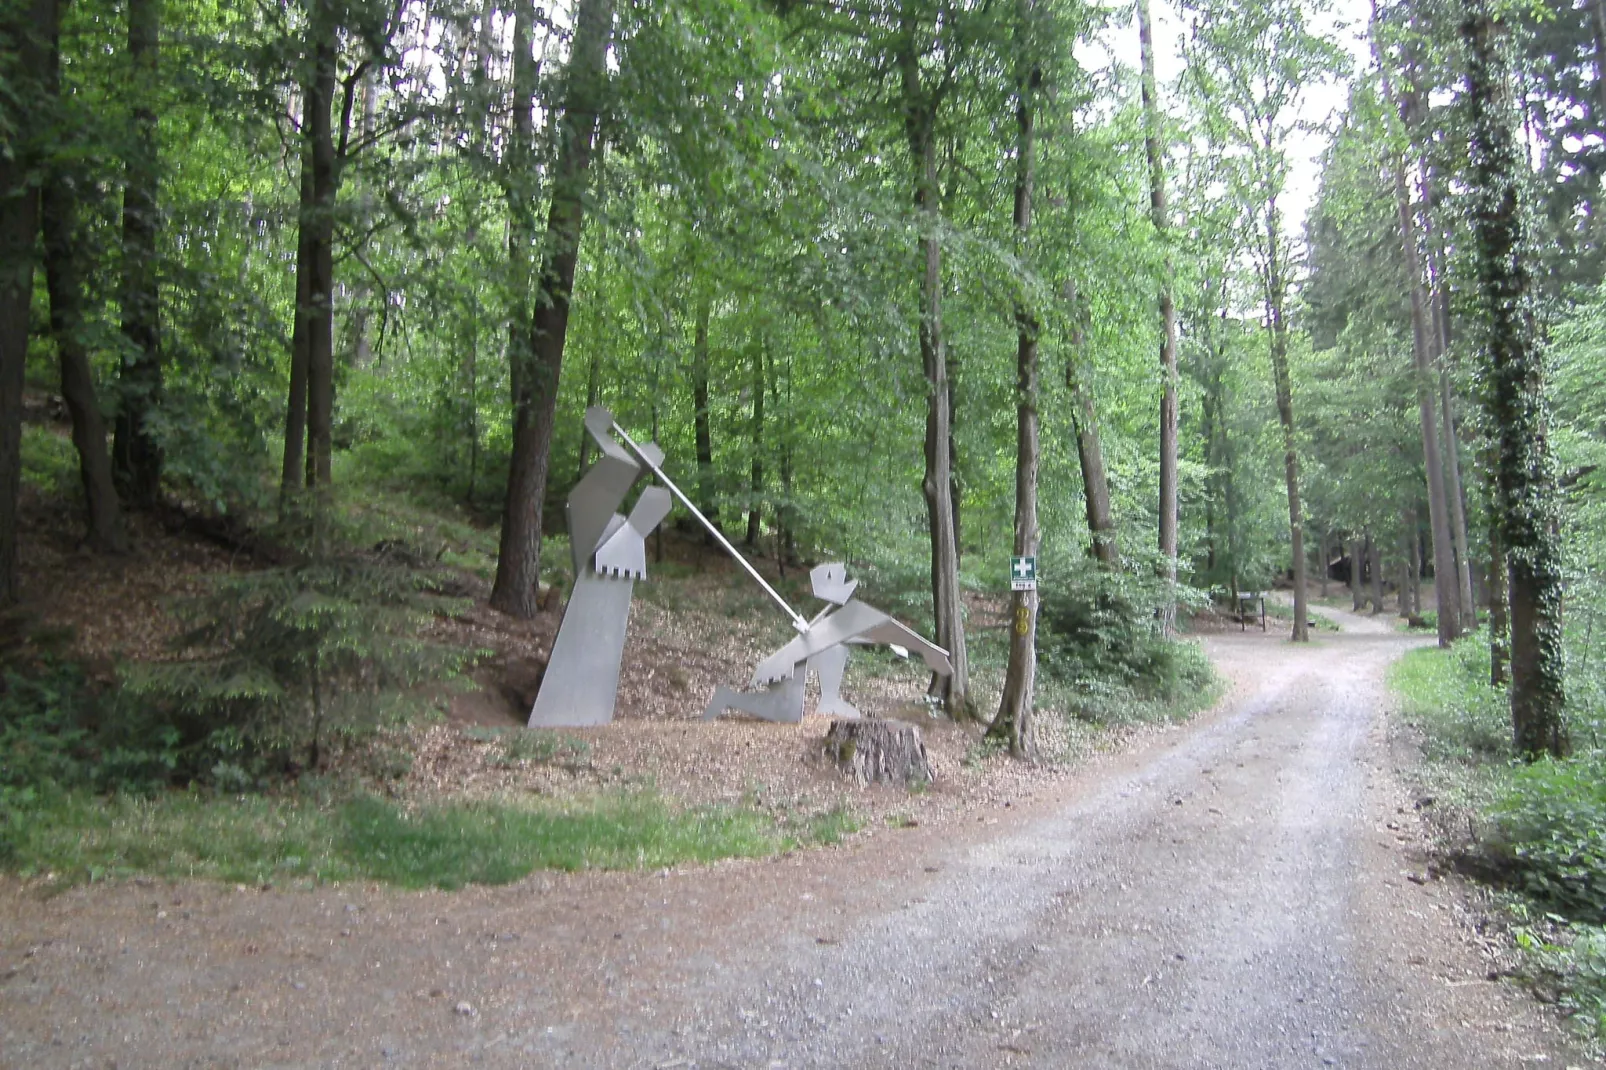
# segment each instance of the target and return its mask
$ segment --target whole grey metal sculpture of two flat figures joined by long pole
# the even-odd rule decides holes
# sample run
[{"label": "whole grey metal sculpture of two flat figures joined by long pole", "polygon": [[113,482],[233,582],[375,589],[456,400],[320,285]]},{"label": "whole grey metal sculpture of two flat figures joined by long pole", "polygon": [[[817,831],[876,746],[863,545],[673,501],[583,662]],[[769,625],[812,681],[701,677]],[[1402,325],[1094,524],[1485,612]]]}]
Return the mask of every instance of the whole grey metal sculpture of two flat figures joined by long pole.
[{"label": "whole grey metal sculpture of two flat figures joined by long pole", "polygon": [[[585,424],[599,456],[569,495],[575,590],[564,607],[541,689],[530,710],[532,728],[605,725],[613,720],[631,594],[636,580],[647,578],[647,535],[670,514],[675,500],[785,611],[798,631],[795,639],[760,662],[752,686],[763,691],[742,694],[719,686],[703,720],[734,709],[769,721],[801,721],[803,683],[809,670],[821,681],[819,712],[858,718],[859,710],[842,697],[850,644],[887,643],[904,655],[914,649],[931,672],[944,676],[952,672],[948,651],[854,599],[858,582],[848,582],[840,564],[822,564],[809,572],[814,594],[830,606],[813,620],[805,620],[665,476],[663,451],[655,443],[636,445],[605,408],[586,410]],[[642,468],[663,485],[642,490],[626,517],[618,508]]]}]

